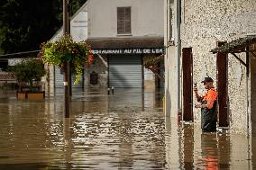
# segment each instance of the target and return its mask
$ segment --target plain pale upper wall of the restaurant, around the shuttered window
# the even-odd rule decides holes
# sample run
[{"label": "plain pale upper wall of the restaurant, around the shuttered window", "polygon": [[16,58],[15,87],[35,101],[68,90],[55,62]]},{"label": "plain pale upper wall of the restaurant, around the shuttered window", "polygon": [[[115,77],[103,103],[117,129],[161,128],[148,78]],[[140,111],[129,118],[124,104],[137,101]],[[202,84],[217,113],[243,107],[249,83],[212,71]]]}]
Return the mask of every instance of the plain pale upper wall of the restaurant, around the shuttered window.
[{"label": "plain pale upper wall of the restaurant, around the shuttered window", "polygon": [[131,6],[132,35],[163,37],[163,1],[91,0],[88,3],[88,38],[117,36],[117,7]]}]

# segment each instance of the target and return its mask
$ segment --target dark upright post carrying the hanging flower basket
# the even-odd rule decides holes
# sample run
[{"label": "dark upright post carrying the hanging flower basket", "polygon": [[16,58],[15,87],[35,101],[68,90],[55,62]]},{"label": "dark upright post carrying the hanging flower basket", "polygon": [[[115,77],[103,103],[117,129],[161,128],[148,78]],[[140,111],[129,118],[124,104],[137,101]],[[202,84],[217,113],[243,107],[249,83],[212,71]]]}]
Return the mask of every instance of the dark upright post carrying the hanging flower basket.
[{"label": "dark upright post carrying the hanging flower basket", "polygon": [[[69,11],[68,11],[69,0],[63,0],[63,34],[69,34]],[[64,103],[65,103],[65,118],[69,118],[69,110],[70,110],[70,63],[65,62],[64,64]]]}]

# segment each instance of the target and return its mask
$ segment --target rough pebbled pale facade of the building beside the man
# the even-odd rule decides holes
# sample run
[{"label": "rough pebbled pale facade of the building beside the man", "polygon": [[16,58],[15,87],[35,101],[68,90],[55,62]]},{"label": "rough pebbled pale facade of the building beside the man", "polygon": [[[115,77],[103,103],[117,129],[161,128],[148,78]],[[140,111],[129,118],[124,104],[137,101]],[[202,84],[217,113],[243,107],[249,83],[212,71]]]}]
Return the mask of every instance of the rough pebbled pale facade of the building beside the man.
[{"label": "rough pebbled pale facade of the building beside the man", "polygon": [[[170,6],[170,7],[168,7]],[[180,6],[180,8],[178,7]],[[181,10],[178,10],[181,9]],[[256,2],[249,1],[174,1],[174,4],[168,1],[165,4],[166,28],[165,45],[170,45],[166,56],[166,69],[172,69],[172,73],[166,73],[168,82],[175,81],[178,84],[170,85],[166,82],[167,113],[177,116],[179,110],[184,108],[181,103],[184,101],[182,63],[184,48],[192,49],[193,53],[193,71],[192,82],[198,83],[199,89],[203,90],[200,85],[201,80],[205,76],[211,76],[215,79],[217,86],[217,75],[222,74],[221,70],[217,70],[216,54],[211,49],[215,49],[216,43],[230,42],[239,38],[244,38],[256,34],[255,23],[256,18]],[[169,18],[172,18],[173,22]],[[178,19],[179,18],[179,19]],[[180,22],[178,22],[180,21]],[[172,44],[174,40],[174,44]],[[178,40],[180,45],[178,46]],[[224,42],[225,43],[225,42]],[[179,48],[179,49],[178,49]],[[250,46],[251,50],[253,45]],[[232,54],[227,55],[227,121],[228,128],[238,133],[247,133],[253,129],[255,123],[255,102],[252,99],[255,96],[253,82],[255,80],[255,58],[248,52],[239,53],[238,58],[246,63],[248,55],[248,72],[242,62],[235,58]],[[173,61],[173,62],[172,62]],[[181,77],[181,78],[178,78]],[[223,80],[221,80],[223,81]],[[191,82],[191,85],[193,83]],[[254,82],[255,83],[255,82]],[[190,86],[191,86],[190,85]],[[180,88],[178,88],[180,86]],[[192,93],[192,92],[191,92]],[[219,94],[224,93],[218,92]],[[193,96],[193,103],[197,103]],[[193,108],[193,121],[200,121],[199,112]],[[253,132],[253,130],[252,130]]]}]

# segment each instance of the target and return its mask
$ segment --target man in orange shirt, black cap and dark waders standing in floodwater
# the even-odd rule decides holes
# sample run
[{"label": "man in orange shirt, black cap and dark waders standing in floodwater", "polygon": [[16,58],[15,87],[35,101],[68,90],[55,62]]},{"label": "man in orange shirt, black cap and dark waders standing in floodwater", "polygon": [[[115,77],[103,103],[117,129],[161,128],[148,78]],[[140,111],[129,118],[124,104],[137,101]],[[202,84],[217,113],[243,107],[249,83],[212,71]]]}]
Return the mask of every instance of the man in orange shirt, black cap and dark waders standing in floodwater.
[{"label": "man in orange shirt, black cap and dark waders standing in floodwater", "polygon": [[216,131],[216,100],[217,92],[213,85],[214,80],[211,77],[205,77],[204,83],[207,90],[206,94],[200,96],[198,94],[197,86],[194,87],[194,92],[196,94],[197,104],[196,108],[201,108],[201,128],[203,132],[214,132]]}]

